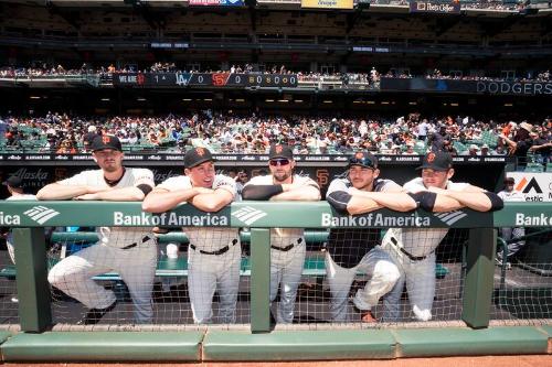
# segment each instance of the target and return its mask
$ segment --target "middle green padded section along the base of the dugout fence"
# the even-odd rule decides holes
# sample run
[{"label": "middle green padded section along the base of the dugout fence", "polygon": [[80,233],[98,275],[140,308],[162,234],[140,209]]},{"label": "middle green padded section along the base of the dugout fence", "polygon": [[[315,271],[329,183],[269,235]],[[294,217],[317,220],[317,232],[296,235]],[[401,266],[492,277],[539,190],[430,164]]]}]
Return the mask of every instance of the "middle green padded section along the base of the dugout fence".
[{"label": "middle green padded section along the base of the dugout fence", "polygon": [[[246,350],[246,352],[245,352]],[[389,331],[297,331],[251,334],[208,332],[203,360],[390,359],[395,341]]]}]

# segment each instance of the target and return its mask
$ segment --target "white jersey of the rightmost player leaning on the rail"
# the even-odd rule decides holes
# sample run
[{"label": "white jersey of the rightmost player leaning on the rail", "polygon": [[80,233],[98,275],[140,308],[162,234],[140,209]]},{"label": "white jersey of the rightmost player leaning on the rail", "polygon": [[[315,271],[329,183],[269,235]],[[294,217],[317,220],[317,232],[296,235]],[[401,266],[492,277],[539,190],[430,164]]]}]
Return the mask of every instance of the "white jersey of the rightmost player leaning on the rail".
[{"label": "white jersey of the rightmost player leaning on the rail", "polygon": [[[448,181],[446,190],[464,191],[468,186],[468,183]],[[424,186],[422,177],[408,181],[403,187],[411,193],[427,190]],[[435,251],[447,233],[448,228],[391,228],[385,234],[385,238],[393,236],[399,244],[397,246],[404,248],[410,255],[413,257],[423,257]]]}]

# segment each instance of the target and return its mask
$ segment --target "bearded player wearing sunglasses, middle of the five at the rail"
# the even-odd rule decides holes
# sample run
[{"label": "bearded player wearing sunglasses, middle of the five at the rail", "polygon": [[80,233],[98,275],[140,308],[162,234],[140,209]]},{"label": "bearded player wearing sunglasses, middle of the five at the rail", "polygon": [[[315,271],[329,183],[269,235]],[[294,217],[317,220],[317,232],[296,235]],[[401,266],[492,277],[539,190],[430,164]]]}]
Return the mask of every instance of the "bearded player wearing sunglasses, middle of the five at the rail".
[{"label": "bearded player wearing sunglasses, middle of the five at the rail", "polygon": [[[244,199],[253,201],[319,201],[320,187],[308,176],[294,174],[294,153],[288,145],[270,147],[270,175],[255,176],[242,192]],[[270,302],[280,287],[277,322],[294,321],[295,298],[305,263],[302,228],[270,229]]]}]

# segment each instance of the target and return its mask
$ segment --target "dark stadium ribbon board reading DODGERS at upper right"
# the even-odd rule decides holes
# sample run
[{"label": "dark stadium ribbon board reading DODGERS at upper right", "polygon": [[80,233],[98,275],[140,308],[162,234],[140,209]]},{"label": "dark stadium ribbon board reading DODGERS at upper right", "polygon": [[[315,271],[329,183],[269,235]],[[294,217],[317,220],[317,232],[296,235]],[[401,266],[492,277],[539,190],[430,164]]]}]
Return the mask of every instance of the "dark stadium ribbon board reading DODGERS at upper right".
[{"label": "dark stadium ribbon board reading DODGERS at upper right", "polygon": [[552,82],[492,82],[426,78],[381,78],[383,91],[418,90],[487,95],[552,96]]}]

